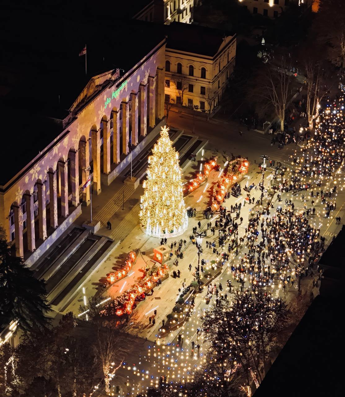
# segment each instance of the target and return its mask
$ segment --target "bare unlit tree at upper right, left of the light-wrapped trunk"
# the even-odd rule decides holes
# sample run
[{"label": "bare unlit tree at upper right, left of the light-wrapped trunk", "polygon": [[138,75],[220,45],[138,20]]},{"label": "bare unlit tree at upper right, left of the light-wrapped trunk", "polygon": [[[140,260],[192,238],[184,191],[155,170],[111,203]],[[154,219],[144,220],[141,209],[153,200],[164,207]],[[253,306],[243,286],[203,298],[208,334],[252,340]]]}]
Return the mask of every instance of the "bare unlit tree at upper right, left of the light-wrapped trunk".
[{"label": "bare unlit tree at upper right, left of the light-wrapped trunk", "polygon": [[256,77],[256,96],[264,101],[262,104],[263,108],[268,107],[274,110],[276,117],[280,120],[281,131],[284,131],[291,75],[291,65],[282,56],[282,61],[277,68],[272,68],[271,65],[268,65]]}]

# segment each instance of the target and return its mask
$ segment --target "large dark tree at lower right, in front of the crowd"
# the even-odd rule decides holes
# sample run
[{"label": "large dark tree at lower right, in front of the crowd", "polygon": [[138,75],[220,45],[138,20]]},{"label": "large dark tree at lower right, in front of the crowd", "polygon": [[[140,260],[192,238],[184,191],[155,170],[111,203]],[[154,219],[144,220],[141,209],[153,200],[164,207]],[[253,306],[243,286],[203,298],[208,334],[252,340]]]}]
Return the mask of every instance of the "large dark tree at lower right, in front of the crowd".
[{"label": "large dark tree at lower right, in front of the crowd", "polygon": [[236,293],[231,303],[220,302],[203,316],[203,336],[218,360],[232,362],[231,372],[224,370],[224,378],[229,374],[229,380],[241,379],[242,374],[246,385],[253,380],[260,383],[274,338],[288,318],[286,304],[262,291],[247,290]]}]

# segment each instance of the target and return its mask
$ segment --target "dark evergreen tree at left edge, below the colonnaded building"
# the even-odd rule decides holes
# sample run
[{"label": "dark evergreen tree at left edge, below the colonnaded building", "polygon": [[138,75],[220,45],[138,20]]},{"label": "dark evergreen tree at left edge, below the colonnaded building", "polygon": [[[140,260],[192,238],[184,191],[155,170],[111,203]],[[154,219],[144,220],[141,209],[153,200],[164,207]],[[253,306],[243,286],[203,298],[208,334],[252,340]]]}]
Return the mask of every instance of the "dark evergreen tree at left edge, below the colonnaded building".
[{"label": "dark evergreen tree at left edge, below the colonnaded building", "polygon": [[45,295],[44,281],[36,279],[21,258],[12,256],[9,243],[0,238],[0,322],[16,319],[24,331],[45,329],[50,311]]}]

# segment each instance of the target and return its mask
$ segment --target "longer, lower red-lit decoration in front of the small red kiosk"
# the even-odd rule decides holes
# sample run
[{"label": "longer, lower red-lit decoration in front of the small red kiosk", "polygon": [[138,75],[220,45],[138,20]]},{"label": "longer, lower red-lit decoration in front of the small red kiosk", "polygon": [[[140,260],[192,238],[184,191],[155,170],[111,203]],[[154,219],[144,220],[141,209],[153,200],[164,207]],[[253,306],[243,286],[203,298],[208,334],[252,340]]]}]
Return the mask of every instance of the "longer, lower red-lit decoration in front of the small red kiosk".
[{"label": "longer, lower red-lit decoration in front of the small red kiosk", "polygon": [[138,283],[134,284],[132,288],[127,289],[117,299],[111,301],[104,310],[100,312],[100,316],[118,316],[121,317],[124,314],[131,314],[134,301],[136,297],[147,291],[152,287],[154,283],[163,278],[169,271],[168,266],[165,264],[160,266],[154,274],[146,276]]}]

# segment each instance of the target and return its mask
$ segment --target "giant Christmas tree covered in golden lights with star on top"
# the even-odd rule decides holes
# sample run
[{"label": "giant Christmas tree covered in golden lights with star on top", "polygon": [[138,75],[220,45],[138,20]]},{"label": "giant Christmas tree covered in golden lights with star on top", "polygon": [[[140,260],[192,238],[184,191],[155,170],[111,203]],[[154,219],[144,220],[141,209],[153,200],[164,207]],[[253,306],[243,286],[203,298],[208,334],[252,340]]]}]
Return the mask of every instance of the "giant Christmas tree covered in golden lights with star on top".
[{"label": "giant Christmas tree covered in golden lights with star on top", "polygon": [[187,229],[178,153],[172,147],[169,128],[161,127],[161,137],[148,159],[144,195],[140,198],[140,225],[146,234],[172,237]]}]

